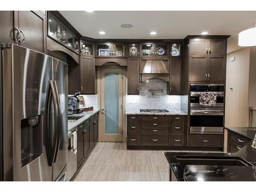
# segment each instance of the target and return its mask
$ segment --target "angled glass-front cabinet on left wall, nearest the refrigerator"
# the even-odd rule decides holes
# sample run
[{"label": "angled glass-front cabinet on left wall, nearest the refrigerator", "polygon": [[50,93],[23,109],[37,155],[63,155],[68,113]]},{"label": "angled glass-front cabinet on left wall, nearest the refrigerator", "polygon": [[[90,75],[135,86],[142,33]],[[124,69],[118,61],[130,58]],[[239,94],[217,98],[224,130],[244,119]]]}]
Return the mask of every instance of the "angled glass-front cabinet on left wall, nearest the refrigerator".
[{"label": "angled glass-front cabinet on left wall, nearest the refrigerator", "polygon": [[48,36],[70,50],[79,53],[79,40],[76,35],[69,31],[51,12],[48,12]]}]

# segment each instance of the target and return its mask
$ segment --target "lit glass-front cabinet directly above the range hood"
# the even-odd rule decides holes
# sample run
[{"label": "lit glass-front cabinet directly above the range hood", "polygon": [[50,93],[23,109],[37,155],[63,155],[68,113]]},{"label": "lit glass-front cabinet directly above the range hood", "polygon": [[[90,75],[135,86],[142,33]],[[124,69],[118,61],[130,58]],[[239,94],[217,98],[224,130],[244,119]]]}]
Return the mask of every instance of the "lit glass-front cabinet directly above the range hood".
[{"label": "lit glass-front cabinet directly above the range hood", "polygon": [[167,43],[144,43],[140,46],[141,57],[168,57],[169,46]]}]

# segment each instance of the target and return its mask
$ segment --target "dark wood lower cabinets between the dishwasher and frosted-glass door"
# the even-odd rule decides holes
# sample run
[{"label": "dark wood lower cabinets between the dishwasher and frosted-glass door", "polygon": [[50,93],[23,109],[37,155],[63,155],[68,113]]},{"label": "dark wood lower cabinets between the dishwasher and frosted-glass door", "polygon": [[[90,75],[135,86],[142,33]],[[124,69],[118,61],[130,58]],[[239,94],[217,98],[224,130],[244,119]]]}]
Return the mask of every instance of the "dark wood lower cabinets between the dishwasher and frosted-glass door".
[{"label": "dark wood lower cabinets between the dishwasher and frosted-glass door", "polygon": [[84,163],[98,141],[98,115],[99,112],[77,126],[77,167]]}]

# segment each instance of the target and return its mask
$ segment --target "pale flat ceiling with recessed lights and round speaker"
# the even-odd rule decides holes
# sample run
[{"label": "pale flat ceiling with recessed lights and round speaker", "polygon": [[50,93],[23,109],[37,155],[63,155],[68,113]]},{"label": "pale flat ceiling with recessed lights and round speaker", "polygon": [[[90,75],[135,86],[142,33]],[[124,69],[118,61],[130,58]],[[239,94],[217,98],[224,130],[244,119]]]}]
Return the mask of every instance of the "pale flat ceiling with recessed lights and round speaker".
[{"label": "pale flat ceiling with recessed lights and round speaker", "polygon": [[[255,22],[255,11],[60,11],[82,35],[111,39],[178,39],[187,35],[232,35]],[[121,24],[132,24],[130,29]],[[104,31],[100,35],[99,31]],[[150,35],[150,32],[157,32]]]}]

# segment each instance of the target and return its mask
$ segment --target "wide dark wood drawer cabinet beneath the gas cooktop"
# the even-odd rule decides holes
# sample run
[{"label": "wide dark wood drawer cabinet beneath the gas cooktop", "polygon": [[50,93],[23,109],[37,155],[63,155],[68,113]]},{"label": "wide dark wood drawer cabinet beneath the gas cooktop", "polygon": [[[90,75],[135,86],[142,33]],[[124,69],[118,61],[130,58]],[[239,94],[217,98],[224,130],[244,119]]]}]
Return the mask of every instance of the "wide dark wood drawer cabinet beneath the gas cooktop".
[{"label": "wide dark wood drawer cabinet beneath the gas cooktop", "polygon": [[127,115],[127,148],[186,146],[186,115]]}]

